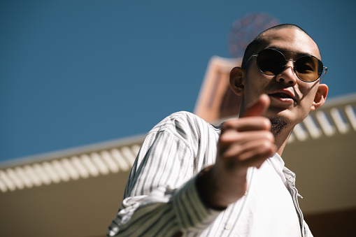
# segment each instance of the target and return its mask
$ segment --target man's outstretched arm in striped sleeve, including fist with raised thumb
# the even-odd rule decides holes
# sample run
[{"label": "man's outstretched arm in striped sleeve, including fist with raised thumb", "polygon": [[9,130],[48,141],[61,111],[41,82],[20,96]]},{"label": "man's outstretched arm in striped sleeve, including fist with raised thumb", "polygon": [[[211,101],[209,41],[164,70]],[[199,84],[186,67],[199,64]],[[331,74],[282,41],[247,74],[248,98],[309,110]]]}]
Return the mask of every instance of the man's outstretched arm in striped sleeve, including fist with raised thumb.
[{"label": "man's outstretched arm in striped sleeve, including fist with raised thumb", "polygon": [[221,210],[245,194],[248,167],[260,166],[275,152],[269,120],[259,117],[268,103],[268,97],[262,96],[246,110],[245,116],[251,117],[222,125],[216,163],[198,176],[193,172],[197,167],[192,144],[166,132],[146,138],[108,236],[118,230],[119,236],[179,236],[188,229],[196,234],[204,231]]}]

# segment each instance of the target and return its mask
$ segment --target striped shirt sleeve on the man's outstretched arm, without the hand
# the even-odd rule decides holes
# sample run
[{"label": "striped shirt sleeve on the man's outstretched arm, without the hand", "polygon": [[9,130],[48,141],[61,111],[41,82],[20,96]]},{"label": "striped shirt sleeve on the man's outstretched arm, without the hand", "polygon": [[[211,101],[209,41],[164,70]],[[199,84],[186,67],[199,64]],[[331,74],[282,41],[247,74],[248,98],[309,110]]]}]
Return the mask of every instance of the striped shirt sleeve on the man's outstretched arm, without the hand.
[{"label": "striped shirt sleeve on the man's outstretched arm, without the hand", "polygon": [[199,234],[220,214],[204,206],[195,180],[190,145],[164,129],[145,138],[129,176],[122,206],[108,236],[173,236]]}]

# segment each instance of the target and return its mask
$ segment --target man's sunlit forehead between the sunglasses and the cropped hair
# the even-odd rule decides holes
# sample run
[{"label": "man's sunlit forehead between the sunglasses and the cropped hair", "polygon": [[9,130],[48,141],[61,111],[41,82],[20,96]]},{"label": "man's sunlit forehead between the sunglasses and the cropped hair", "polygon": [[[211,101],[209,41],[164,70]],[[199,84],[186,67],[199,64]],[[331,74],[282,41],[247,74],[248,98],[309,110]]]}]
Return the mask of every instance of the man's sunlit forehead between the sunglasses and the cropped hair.
[{"label": "man's sunlit forehead between the sunglasses and the cropped hair", "polygon": [[270,29],[262,34],[262,38],[266,42],[263,48],[279,48],[281,50],[300,52],[306,55],[313,55],[321,60],[318,45],[311,36],[308,36],[300,29],[294,27]]}]

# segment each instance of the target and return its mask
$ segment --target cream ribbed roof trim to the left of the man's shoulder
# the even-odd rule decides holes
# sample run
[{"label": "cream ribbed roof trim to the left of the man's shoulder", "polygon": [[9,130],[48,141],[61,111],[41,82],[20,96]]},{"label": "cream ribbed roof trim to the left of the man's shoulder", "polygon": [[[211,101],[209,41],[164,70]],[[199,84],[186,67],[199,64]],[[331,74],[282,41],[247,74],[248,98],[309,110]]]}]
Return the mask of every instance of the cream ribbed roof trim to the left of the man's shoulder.
[{"label": "cream ribbed roof trim to the left of the man's shoulder", "polygon": [[127,172],[143,136],[26,157],[0,164],[0,192]]}]

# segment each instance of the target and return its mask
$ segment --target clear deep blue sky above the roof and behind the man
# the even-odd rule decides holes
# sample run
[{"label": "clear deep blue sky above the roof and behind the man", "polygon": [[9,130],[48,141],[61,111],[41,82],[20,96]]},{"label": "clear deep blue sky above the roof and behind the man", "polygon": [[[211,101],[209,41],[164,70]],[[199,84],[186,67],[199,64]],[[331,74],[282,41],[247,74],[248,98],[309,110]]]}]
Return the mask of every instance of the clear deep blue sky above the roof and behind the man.
[{"label": "clear deep blue sky above the roof and behind the man", "polygon": [[192,112],[213,55],[247,13],[320,46],[329,97],[356,92],[355,1],[0,3],[0,161],[145,134]]}]

